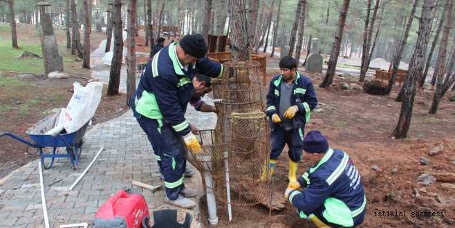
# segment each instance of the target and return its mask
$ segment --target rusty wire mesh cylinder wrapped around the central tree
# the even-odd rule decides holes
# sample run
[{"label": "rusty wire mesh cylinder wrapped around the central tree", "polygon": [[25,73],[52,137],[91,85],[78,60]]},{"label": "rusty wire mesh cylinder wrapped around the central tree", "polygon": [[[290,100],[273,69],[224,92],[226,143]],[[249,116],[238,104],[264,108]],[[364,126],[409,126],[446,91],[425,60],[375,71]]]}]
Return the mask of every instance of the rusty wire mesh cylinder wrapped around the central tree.
[{"label": "rusty wire mesh cylinder wrapped around the central tree", "polygon": [[[254,61],[231,61],[223,64],[221,79],[212,81],[218,121],[214,143],[223,145],[224,164],[229,169],[232,205],[255,205],[270,199],[270,129],[266,121],[259,64]],[[213,151],[218,150],[212,146]],[[219,158],[220,156],[216,157]],[[218,162],[220,163],[220,162]],[[228,167],[226,167],[226,164]],[[215,194],[226,202],[226,177],[215,172]]]}]

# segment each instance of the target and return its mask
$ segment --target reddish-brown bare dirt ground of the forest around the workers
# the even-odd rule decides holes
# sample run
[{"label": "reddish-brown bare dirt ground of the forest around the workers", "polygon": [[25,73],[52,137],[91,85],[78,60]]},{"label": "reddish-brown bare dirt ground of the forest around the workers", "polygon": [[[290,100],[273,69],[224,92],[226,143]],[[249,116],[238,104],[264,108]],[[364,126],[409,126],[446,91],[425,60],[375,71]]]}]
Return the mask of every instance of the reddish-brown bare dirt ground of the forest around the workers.
[{"label": "reddish-brown bare dirt ground of the forest around the workers", "polygon": [[[140,32],[141,34],[141,32]],[[103,38],[100,36],[100,38]],[[104,38],[103,38],[104,39]],[[171,38],[172,39],[172,38]],[[92,40],[91,45],[97,46]],[[136,38],[136,51],[148,53],[149,47],[144,47],[142,37]],[[168,44],[166,41],[165,44]],[[99,44],[99,43],[98,43]],[[147,57],[138,58],[137,63],[147,61]],[[270,59],[275,63],[278,59]],[[279,72],[276,68],[268,68],[267,80]],[[433,99],[434,89],[425,86],[416,95],[414,110],[409,129],[409,137],[405,140],[395,140],[390,137],[400,114],[401,104],[393,99],[399,92],[398,85],[393,88],[391,95],[369,95],[360,90],[343,90],[342,82],[357,84],[362,87],[358,77],[335,76],[330,88],[322,89],[318,85],[324,75],[304,73],[310,77],[315,85],[319,104],[311,114],[311,120],[306,125],[306,132],[311,130],[322,131],[328,138],[332,148],[342,149],[348,153],[357,169],[360,171],[364,183],[367,211],[364,223],[360,227],[454,227],[455,226],[455,184],[438,182],[423,185],[416,182],[418,175],[430,173],[454,173],[455,167],[455,102],[449,102],[447,97],[454,96],[449,91],[440,102],[438,113],[429,115],[428,110]],[[71,78],[70,78],[71,79]],[[49,89],[68,90],[72,83],[55,87],[53,82],[35,79],[35,89],[43,90],[41,95]],[[74,79],[73,79],[74,80]],[[42,85],[42,83],[46,85]],[[38,85],[40,84],[40,85]],[[266,95],[268,88],[263,90]],[[1,93],[0,93],[1,95]],[[68,92],[68,99],[71,97]],[[18,97],[17,99],[20,99]],[[66,99],[64,104],[67,104]],[[12,104],[16,100],[11,101]],[[57,106],[58,107],[58,106]],[[124,108],[123,111],[119,111]],[[9,120],[11,132],[26,137],[24,132],[28,127],[43,117],[44,107],[37,107],[29,115],[17,115],[16,119]],[[105,97],[95,115],[96,122],[104,122],[109,118],[118,117],[127,108],[124,106],[122,95]],[[100,112],[101,113],[100,113]],[[15,115],[15,113],[12,113]],[[3,129],[3,127],[2,127]],[[0,177],[17,169],[22,164],[38,158],[37,155],[27,155],[26,146],[15,141],[5,141],[0,138],[0,155],[2,167],[9,164],[7,171],[0,172]],[[429,155],[429,151],[436,146],[443,146],[443,151],[436,155]],[[284,193],[287,185],[288,155],[285,151],[277,162],[274,173],[274,191]],[[11,158],[10,158],[11,157]],[[429,164],[420,164],[420,158],[425,157]],[[304,158],[299,164],[298,173],[304,173],[310,162]],[[283,211],[272,211],[259,205],[252,207],[232,207],[232,221],[228,221],[228,207],[218,203],[219,225],[217,227],[312,227],[307,220],[298,218],[295,207],[288,204]],[[203,227],[210,226],[207,222],[207,207],[201,198],[200,221]],[[380,216],[382,211],[406,212],[406,216]],[[442,211],[443,216],[414,216],[416,211]],[[396,213],[395,213],[396,215]]]}]

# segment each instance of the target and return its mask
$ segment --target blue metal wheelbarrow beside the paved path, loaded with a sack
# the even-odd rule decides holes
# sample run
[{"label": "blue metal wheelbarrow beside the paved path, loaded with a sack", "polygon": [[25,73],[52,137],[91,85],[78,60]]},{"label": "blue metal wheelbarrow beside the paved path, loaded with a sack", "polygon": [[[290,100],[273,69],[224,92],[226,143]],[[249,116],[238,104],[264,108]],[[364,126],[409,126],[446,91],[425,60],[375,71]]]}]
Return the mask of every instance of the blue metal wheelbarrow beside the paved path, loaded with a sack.
[{"label": "blue metal wheelbarrow beside the paved path, loaded with a sack", "polygon": [[[64,108],[62,111],[63,110]],[[84,126],[73,133],[65,133],[62,131],[46,134],[51,129],[54,129],[58,117],[59,112],[50,114],[37,124],[30,127],[30,129],[26,131],[26,134],[28,137],[30,137],[30,142],[9,132],[0,133],[0,137],[8,135],[15,140],[19,140],[19,142],[23,142],[24,144],[37,149],[37,151],[39,151],[39,158],[41,159],[41,164],[43,165],[44,169],[50,169],[54,163],[55,158],[69,158],[71,161],[71,168],[77,170],[80,151],[83,144],[82,137],[84,137],[90,121],[86,122]],[[45,147],[52,148],[52,153],[44,153],[43,149]],[[65,147],[66,153],[57,153],[59,147]],[[44,162],[44,158],[50,158],[50,162],[46,164]]]}]

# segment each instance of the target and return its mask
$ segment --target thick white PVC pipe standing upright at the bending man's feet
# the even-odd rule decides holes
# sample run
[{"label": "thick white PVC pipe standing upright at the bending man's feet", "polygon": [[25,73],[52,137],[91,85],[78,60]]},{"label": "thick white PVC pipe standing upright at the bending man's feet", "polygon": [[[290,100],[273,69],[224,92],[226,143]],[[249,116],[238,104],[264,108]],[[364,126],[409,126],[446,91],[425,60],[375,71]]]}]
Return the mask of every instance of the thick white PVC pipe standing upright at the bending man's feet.
[{"label": "thick white PVC pipe standing upright at the bending man's feet", "polygon": [[218,224],[218,216],[216,216],[216,200],[213,194],[213,178],[210,174],[212,170],[212,158],[210,156],[204,156],[204,179],[205,179],[205,196],[207,196],[207,209],[209,211],[209,223],[210,225]]}]

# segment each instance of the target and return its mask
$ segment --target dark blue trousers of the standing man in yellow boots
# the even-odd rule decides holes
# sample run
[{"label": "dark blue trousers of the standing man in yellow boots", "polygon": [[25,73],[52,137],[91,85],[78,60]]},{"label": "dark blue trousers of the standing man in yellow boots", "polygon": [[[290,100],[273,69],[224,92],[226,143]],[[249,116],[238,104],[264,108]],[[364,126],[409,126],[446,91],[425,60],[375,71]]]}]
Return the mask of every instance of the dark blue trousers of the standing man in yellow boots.
[{"label": "dark blue trousers of the standing man in yellow boots", "polygon": [[284,146],[288,144],[289,159],[293,162],[299,162],[303,151],[302,143],[304,142],[304,130],[305,126],[287,131],[283,126],[279,125],[272,128],[270,131],[270,145],[272,146],[270,159],[277,160],[283,151]]}]

